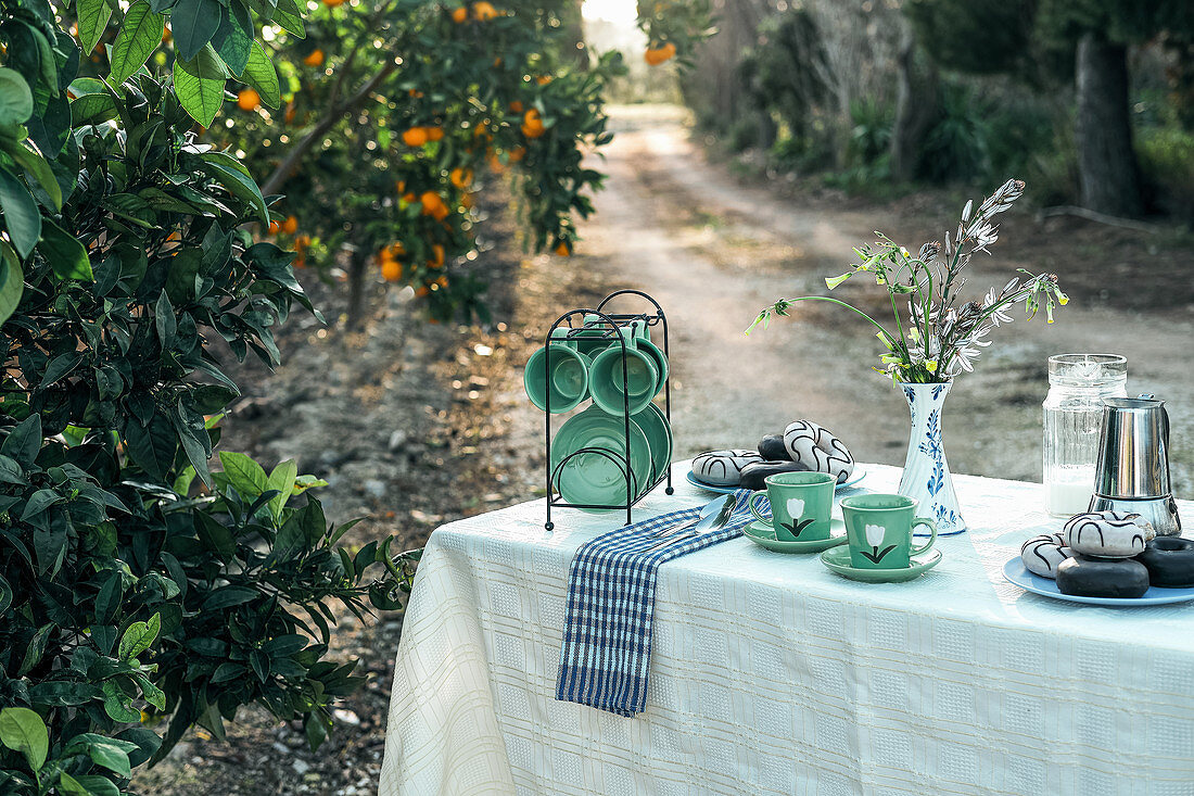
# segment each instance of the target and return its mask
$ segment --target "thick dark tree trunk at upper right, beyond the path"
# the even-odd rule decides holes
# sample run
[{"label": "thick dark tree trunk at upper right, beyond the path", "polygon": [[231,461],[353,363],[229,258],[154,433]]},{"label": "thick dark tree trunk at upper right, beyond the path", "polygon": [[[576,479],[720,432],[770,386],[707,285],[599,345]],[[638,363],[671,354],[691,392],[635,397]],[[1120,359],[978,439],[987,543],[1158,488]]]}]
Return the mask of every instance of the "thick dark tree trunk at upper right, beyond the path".
[{"label": "thick dark tree trunk at upper right, beyond the path", "polygon": [[1140,174],[1127,106],[1127,48],[1085,33],[1078,42],[1078,182],[1082,204],[1107,215],[1140,215]]}]

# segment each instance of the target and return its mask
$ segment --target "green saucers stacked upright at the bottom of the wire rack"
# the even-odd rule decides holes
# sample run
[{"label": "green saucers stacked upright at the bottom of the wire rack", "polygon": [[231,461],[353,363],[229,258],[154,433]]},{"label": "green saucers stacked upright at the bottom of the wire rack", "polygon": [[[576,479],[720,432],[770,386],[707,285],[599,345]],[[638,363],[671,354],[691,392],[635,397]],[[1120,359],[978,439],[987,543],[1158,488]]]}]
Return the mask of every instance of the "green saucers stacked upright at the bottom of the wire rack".
[{"label": "green saucers stacked upright at the bottom of the wire rack", "polygon": [[[630,495],[650,490],[671,464],[672,433],[654,404],[630,416]],[[568,503],[626,502],[626,420],[590,406],[552,441],[552,485]]]}]

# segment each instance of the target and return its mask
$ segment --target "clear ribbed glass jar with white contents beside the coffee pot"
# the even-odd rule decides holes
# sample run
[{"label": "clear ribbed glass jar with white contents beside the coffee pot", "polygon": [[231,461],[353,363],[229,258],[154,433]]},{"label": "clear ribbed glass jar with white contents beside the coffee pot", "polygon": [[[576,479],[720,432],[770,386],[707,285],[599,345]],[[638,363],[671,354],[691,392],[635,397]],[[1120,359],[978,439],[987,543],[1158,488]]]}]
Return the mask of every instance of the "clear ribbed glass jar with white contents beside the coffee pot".
[{"label": "clear ribbed glass jar with white contents beside the coffee pot", "polygon": [[1045,500],[1054,516],[1082,514],[1095,492],[1103,398],[1127,396],[1127,360],[1115,354],[1048,357]]}]

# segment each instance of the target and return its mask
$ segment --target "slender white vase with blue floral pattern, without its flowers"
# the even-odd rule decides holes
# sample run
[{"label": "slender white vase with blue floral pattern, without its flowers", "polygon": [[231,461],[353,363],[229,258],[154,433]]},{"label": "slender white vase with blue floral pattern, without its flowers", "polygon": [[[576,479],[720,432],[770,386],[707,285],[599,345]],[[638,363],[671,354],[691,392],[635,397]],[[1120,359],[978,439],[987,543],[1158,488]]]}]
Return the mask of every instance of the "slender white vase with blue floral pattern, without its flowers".
[{"label": "slender white vase with blue floral pattern, without its flowers", "polygon": [[949,474],[946,448],[941,442],[941,412],[950,385],[900,386],[912,412],[912,430],[907,437],[907,457],[904,459],[899,494],[919,502],[916,515],[936,521],[938,537],[962,533],[966,531],[966,521],[958,507],[954,479]]}]

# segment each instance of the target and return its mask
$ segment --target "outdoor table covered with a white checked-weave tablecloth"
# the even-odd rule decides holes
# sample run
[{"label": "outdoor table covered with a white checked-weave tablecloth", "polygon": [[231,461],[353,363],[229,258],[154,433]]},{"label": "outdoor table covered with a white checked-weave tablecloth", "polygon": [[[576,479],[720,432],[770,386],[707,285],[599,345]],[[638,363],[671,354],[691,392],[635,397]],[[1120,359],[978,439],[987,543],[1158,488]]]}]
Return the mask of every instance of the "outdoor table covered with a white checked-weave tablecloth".
[{"label": "outdoor table covered with a white checked-weave tablecloth", "polygon": [[[860,488],[899,470],[864,465]],[[673,465],[634,512],[707,502]],[[1194,794],[1194,605],[1028,594],[1039,484],[956,477],[970,523],[909,583],[737,538],[659,569],[646,712],[555,699],[568,568],[616,512],[543,501],[437,529],[394,672],[380,796]],[[1194,504],[1181,513],[1194,520]]]}]

